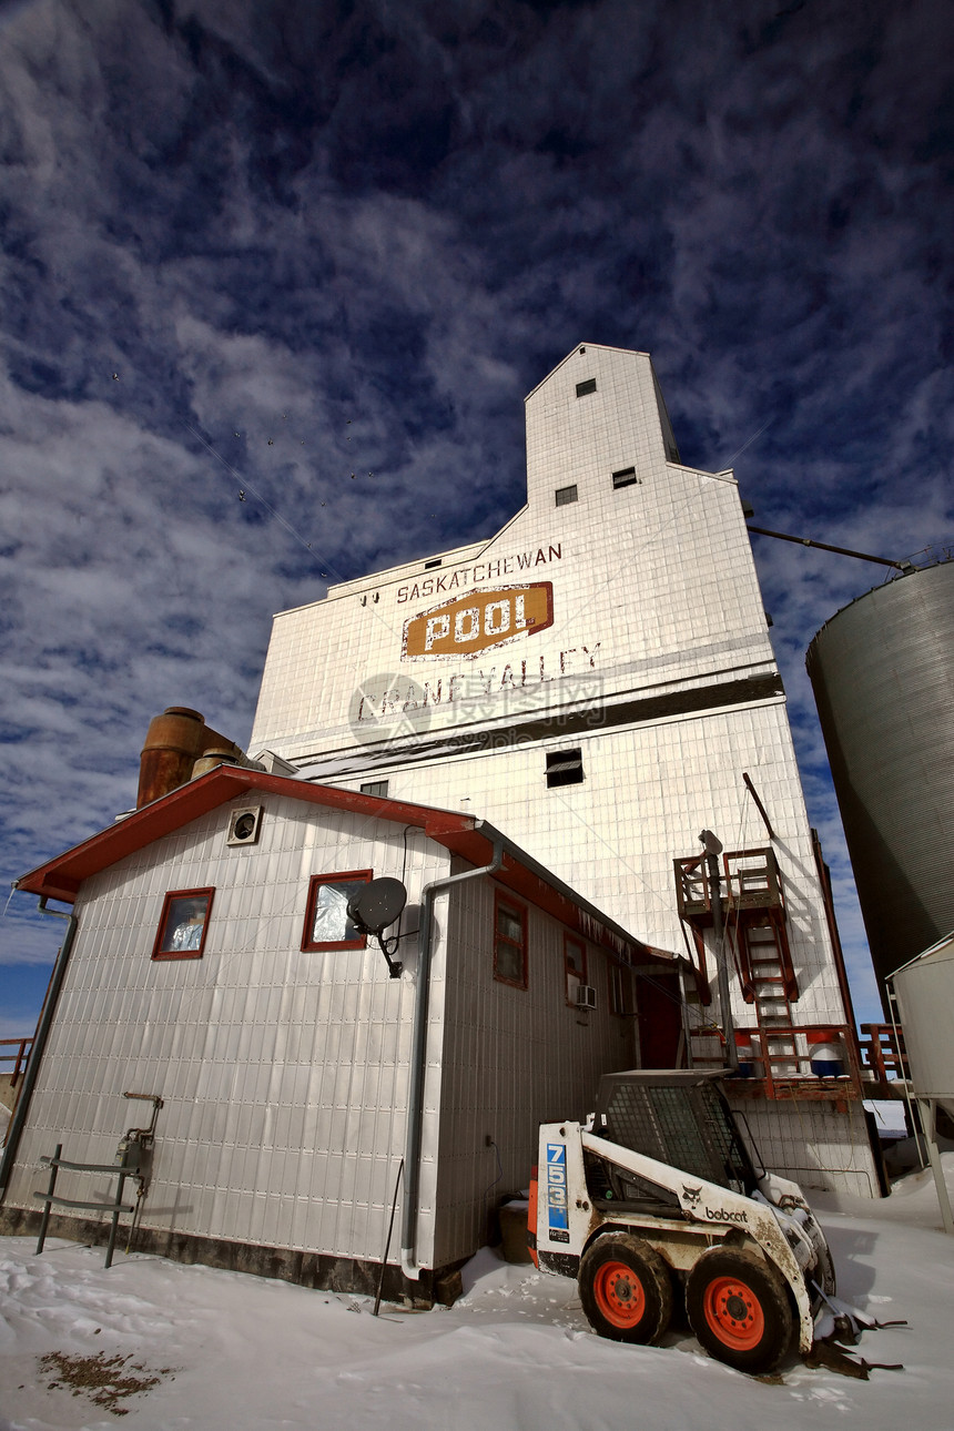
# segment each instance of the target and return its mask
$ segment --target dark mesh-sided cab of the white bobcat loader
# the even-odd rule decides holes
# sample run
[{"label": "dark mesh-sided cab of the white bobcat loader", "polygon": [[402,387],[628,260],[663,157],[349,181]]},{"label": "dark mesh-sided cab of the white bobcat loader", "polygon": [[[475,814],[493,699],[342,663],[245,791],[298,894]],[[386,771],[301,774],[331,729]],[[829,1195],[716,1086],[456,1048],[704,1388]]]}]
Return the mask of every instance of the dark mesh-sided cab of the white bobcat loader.
[{"label": "dark mesh-sided cab of the white bobcat loader", "polygon": [[[606,1073],[599,1082],[594,1133],[679,1168],[691,1178],[714,1182],[732,1192],[751,1195],[758,1178],[742,1142],[718,1075],[697,1070],[632,1070]],[[668,1203],[662,1188],[614,1185],[619,1173],[595,1163],[586,1169],[591,1196],[596,1203],[652,1201]],[[601,1179],[605,1185],[601,1185]],[[626,1178],[629,1182],[629,1176]],[[635,1208],[634,1208],[635,1211]],[[645,1211],[651,1211],[649,1206]],[[661,1206],[662,1211],[662,1206]]]}]

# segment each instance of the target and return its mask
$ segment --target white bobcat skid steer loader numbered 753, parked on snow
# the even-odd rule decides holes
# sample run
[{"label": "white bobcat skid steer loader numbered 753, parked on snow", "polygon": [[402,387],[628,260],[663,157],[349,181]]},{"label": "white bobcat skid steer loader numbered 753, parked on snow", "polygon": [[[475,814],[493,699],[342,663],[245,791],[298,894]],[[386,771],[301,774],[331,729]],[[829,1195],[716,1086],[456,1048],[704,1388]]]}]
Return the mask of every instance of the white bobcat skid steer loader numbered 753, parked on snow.
[{"label": "white bobcat skid steer loader numbered 753, parked on snow", "polygon": [[585,1125],[545,1123],[529,1246],[575,1276],[601,1337],[657,1342],[674,1296],[719,1361],[772,1371],[835,1292],[825,1236],[797,1183],[757,1172],[718,1075],[609,1073]]}]

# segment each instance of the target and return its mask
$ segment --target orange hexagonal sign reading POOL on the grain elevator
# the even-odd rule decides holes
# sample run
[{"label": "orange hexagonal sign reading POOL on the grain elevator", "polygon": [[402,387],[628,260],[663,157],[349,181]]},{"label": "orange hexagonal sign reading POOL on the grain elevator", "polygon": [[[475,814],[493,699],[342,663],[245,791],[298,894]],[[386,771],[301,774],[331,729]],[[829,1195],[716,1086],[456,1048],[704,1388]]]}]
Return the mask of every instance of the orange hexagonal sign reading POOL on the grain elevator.
[{"label": "orange hexagonal sign reading POOL on the grain elevator", "polygon": [[518,637],[538,635],[552,624],[552,581],[468,591],[405,621],[402,655],[408,661],[479,655]]}]

